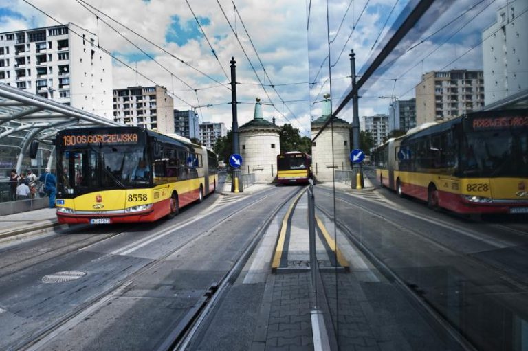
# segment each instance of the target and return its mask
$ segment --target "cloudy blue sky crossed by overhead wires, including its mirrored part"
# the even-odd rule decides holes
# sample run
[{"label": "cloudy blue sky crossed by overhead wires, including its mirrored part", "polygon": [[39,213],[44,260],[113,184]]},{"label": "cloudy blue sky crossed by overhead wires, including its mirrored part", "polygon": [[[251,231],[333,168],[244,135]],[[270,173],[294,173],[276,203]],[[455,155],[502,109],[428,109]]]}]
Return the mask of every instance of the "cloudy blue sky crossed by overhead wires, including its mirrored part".
[{"label": "cloudy blue sky crossed by overhead wires, including its mirrored part", "polygon": [[[303,135],[309,135],[310,120],[320,115],[318,101],[322,100],[322,95],[331,89],[335,109],[349,89],[350,50],[357,54],[356,67],[358,73],[362,73],[365,63],[381,48],[384,38],[397,27],[402,13],[405,14],[417,2],[27,1],[53,19],[23,0],[3,0],[0,5],[0,32],[57,25],[57,21],[76,23],[97,33],[100,46],[116,58],[133,68],[137,67],[138,73],[135,73],[114,60],[114,88],[156,82],[173,93],[176,109],[190,109],[189,105],[212,105],[198,109],[201,122],[224,122],[228,127],[231,125],[231,92],[227,83],[229,62],[234,56],[236,80],[239,82],[238,100],[241,102],[239,124],[252,118],[254,100],[259,97],[267,104],[263,106],[265,117],[270,120],[276,117],[278,124],[291,123]],[[361,92],[360,115],[387,113],[390,99],[380,96],[412,98],[413,87],[426,71],[482,69],[481,32],[492,25],[496,10],[504,5],[505,0],[437,3],[444,5],[440,10],[437,8],[437,12],[431,11],[421,21],[415,32],[401,43],[396,57],[390,58],[392,65],[384,65],[377,80],[372,80],[369,89]],[[157,63],[123,36],[155,58]],[[414,49],[409,49],[418,43]],[[252,45],[256,47],[260,60]],[[351,114],[347,111],[340,117],[351,121]]]}]

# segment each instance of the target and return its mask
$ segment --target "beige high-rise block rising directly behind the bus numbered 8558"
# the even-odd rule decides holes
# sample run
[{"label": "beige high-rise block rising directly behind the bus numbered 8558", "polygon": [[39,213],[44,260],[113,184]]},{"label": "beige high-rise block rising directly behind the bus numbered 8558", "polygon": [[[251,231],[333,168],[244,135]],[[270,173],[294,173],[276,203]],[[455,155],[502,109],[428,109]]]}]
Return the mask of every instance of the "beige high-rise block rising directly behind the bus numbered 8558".
[{"label": "beige high-rise block rising directly behind the bus numbered 8558", "polygon": [[174,133],[174,100],[159,85],[114,89],[113,120],[160,133]]}]

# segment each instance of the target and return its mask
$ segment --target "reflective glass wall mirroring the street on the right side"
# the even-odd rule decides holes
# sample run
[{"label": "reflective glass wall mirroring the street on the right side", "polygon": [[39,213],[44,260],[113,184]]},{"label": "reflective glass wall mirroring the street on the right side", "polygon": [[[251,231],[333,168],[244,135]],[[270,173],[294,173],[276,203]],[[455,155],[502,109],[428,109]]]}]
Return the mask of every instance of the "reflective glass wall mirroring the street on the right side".
[{"label": "reflective glass wall mirroring the street on the right side", "polygon": [[528,1],[307,8],[336,348],[527,350]]}]

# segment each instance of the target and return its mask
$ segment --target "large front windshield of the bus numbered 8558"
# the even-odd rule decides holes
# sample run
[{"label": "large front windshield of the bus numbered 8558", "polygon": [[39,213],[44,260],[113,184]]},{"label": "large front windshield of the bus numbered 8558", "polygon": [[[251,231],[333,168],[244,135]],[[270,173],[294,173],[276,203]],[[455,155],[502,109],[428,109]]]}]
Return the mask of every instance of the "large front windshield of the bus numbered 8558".
[{"label": "large front windshield of the bus numbered 8558", "polygon": [[[151,183],[144,146],[84,146],[58,155],[57,192],[78,196],[98,189],[137,188]],[[68,196],[69,195],[69,196]]]}]

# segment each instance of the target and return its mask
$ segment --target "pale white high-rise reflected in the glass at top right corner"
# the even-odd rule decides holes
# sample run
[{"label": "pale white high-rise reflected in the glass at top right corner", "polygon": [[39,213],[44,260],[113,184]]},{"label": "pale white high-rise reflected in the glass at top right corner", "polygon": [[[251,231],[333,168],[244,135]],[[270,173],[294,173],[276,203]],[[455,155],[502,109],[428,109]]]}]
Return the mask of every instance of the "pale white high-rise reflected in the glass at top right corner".
[{"label": "pale white high-rise reflected in the glass at top right corner", "polygon": [[508,1],[482,33],[486,105],[528,89],[528,0]]}]

